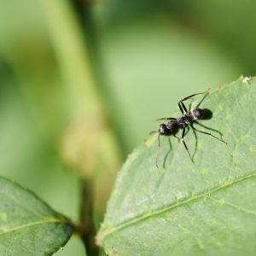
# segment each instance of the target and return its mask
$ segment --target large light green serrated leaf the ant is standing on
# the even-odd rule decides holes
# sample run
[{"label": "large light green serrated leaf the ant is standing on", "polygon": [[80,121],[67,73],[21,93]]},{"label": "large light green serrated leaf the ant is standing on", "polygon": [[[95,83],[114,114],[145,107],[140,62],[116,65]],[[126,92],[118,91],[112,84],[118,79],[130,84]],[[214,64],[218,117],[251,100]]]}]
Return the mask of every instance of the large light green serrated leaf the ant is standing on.
[{"label": "large light green serrated leaf the ant is standing on", "polygon": [[[195,97],[192,108],[201,98]],[[106,253],[255,255],[255,102],[256,79],[239,79],[210,91],[200,107],[213,116],[200,122],[223,133],[228,145],[197,133],[195,164],[175,137],[161,137],[159,169],[157,135],[129,156],[97,235]],[[193,154],[191,130],[185,141]]]}]

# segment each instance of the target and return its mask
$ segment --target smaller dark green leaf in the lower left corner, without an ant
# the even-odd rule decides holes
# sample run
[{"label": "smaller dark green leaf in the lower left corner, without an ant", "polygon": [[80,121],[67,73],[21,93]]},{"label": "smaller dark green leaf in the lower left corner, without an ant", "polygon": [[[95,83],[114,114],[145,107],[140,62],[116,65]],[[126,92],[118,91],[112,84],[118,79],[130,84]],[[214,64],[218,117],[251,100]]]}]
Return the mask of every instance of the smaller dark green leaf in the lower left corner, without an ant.
[{"label": "smaller dark green leaf in the lower left corner, without an ant", "polygon": [[0,255],[52,255],[73,225],[32,192],[0,177]]}]

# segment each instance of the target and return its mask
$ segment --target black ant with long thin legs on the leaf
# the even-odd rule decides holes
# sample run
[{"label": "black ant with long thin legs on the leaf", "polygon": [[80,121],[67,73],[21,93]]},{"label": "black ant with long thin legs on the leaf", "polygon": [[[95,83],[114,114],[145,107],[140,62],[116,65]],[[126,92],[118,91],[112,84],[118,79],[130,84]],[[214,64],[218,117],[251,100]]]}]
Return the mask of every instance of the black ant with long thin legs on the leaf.
[{"label": "black ant with long thin legs on the leaf", "polygon": [[[220,142],[227,144],[226,142],[224,142],[223,139],[215,137],[214,135],[212,135],[212,133],[209,133],[206,131],[199,131],[193,125],[193,123],[195,123],[197,119],[210,119],[212,117],[212,116],[209,117],[209,115],[212,114],[212,112],[210,110],[208,110],[207,108],[204,108],[204,109],[194,108],[194,109],[189,109],[189,111],[188,111],[186,106],[183,103],[184,101],[188,100],[189,98],[192,98],[193,96],[197,96],[197,95],[201,95],[201,94],[205,94],[205,93],[206,92],[201,92],[201,93],[196,93],[196,94],[187,96],[177,103],[178,108],[180,109],[181,113],[183,114],[183,116],[181,118],[157,119],[157,120],[170,120],[167,124],[160,124],[158,131],[153,131],[153,132],[158,132],[158,134],[159,134],[158,135],[158,148],[160,148],[160,136],[172,136],[173,135],[174,137],[176,137],[176,133],[177,133],[178,129],[183,129],[181,139],[183,141],[184,147],[186,148],[186,151],[189,154],[190,160],[194,163],[194,160],[191,157],[191,154],[189,153],[189,148],[187,147],[187,144],[184,142],[184,135],[186,133],[187,127],[191,127],[194,131],[198,131],[198,132],[210,135],[210,136],[218,139]],[[157,166],[157,168],[159,168],[159,166],[157,164],[157,156],[156,156],[156,160],[155,160],[155,165]]]}]

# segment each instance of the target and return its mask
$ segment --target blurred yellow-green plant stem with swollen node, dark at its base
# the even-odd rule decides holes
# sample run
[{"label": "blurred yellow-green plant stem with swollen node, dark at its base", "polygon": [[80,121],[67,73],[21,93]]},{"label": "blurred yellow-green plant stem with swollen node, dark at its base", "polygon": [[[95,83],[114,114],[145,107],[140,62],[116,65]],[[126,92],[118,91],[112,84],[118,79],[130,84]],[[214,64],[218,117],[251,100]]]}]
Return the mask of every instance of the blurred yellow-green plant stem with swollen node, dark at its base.
[{"label": "blurred yellow-green plant stem with swollen node, dark at its base", "polygon": [[[69,142],[73,141],[72,146],[75,148],[72,155],[78,155],[78,152],[81,155],[71,163],[73,169],[81,175],[82,181],[80,225],[77,231],[84,241],[87,254],[96,255],[98,248],[95,241],[96,230],[93,225],[93,212],[96,205],[94,185],[97,183],[100,188],[97,190],[98,198],[109,194],[115,173],[120,165],[119,143],[112,127],[110,128],[106,121],[108,119],[106,108],[103,106],[102,96],[90,67],[90,57],[85,44],[87,42],[84,42],[71,5],[67,0],[42,0],[42,2],[48,20],[50,38],[61,71],[61,79],[65,84],[63,90],[67,92],[67,104],[70,107],[70,113],[67,113],[69,123],[79,124],[73,125],[72,131],[69,129],[69,135],[71,133]],[[85,120],[85,122],[81,125],[81,122],[77,120]],[[87,137],[79,140],[75,137],[79,134],[76,129],[79,129],[79,132],[82,131]],[[69,144],[66,146],[66,149],[70,149]],[[67,160],[69,160],[68,157]],[[99,180],[103,180],[104,186],[108,184],[109,188],[101,188]],[[104,204],[106,200],[104,198]]]}]

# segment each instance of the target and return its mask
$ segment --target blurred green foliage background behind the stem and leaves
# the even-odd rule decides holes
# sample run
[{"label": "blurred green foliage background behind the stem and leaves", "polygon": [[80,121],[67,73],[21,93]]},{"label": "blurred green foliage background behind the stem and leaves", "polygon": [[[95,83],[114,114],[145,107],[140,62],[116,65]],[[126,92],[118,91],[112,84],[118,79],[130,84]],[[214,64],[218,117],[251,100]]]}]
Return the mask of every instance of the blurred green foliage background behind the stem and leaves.
[{"label": "blurred green foliage background behind the stem and leaves", "polygon": [[[63,165],[60,142],[79,111],[73,105],[84,99],[86,108],[90,99],[77,90],[79,99],[70,101],[75,79],[63,72],[55,40],[70,43],[64,44],[65,60],[77,70],[69,39],[85,38],[124,156],[156,129],[154,119],[177,108],[178,99],[256,73],[253,1],[73,0],[68,7],[79,29],[57,38],[49,24],[60,31],[63,24],[47,20],[46,3],[0,1],[0,174],[71,218],[79,217],[79,177]],[[57,254],[74,253],[84,255],[77,238]]]}]

